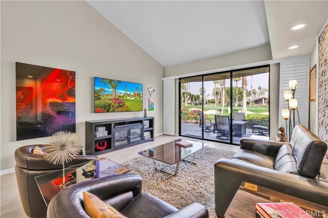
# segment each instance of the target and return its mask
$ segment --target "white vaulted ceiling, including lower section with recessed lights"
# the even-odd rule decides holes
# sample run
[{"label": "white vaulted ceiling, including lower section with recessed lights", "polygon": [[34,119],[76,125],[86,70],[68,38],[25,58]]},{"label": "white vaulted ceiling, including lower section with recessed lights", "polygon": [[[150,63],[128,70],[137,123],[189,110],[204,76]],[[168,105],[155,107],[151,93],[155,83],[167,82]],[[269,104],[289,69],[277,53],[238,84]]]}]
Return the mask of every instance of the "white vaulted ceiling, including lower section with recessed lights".
[{"label": "white vaulted ceiling, including lower section with recessed lights", "polygon": [[328,18],[328,1],[87,2],[164,67],[268,43],[274,59],[309,54]]}]

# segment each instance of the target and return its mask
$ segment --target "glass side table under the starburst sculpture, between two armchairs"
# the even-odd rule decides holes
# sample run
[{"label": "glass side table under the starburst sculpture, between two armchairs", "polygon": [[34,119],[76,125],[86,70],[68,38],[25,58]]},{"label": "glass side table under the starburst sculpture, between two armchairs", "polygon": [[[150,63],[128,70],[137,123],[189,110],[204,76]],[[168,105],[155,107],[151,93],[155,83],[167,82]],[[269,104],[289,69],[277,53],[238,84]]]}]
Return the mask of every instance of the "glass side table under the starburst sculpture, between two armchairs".
[{"label": "glass side table under the starburst sculpture, between two armchairs", "polygon": [[[83,171],[82,168],[88,165],[96,165],[96,170],[94,173],[88,174]],[[34,179],[46,205],[48,206],[50,200],[54,197],[54,195],[56,195],[59,191],[69,185],[105,176],[118,175],[129,171],[130,169],[128,169],[127,167],[122,166],[104,157],[98,158],[97,163],[96,160],[92,160],[65,168],[64,187],[62,170],[49,172],[44,175],[37,176]]]}]

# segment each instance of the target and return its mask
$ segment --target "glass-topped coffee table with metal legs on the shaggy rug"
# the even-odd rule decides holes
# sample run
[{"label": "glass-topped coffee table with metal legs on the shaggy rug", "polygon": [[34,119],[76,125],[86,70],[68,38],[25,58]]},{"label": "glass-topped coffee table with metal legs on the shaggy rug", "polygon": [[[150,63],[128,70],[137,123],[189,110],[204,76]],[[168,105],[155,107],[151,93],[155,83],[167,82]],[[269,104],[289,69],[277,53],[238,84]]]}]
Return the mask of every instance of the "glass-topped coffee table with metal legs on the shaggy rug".
[{"label": "glass-topped coffee table with metal legs on the shaggy rug", "polygon": [[[179,141],[182,140],[177,139],[161,144],[156,147],[140,151],[138,154],[153,159],[155,169],[169,173],[168,178],[170,178],[175,176],[179,169],[183,169],[189,164],[195,163],[196,152],[208,145],[202,142],[183,140],[192,143],[192,145],[182,147],[176,144]],[[190,160],[190,158],[192,159]],[[182,167],[180,167],[181,163],[183,163]],[[174,164],[176,164],[175,169],[172,167]]]}]

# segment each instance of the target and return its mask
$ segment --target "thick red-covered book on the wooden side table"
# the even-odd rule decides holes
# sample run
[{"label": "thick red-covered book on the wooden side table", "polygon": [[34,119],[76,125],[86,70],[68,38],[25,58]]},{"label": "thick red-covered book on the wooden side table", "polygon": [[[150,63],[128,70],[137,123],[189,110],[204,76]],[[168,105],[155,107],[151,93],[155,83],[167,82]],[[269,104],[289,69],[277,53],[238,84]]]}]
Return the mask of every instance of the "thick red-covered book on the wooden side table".
[{"label": "thick red-covered book on the wooden side table", "polygon": [[313,217],[292,202],[256,203],[255,209],[261,218]]}]

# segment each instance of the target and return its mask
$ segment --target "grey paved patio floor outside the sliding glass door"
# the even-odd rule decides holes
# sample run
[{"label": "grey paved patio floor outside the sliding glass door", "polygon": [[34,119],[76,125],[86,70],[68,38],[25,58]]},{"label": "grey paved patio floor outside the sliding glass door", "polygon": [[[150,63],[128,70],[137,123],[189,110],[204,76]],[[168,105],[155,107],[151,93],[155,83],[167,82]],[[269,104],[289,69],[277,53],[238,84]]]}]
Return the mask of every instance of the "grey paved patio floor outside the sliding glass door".
[{"label": "grey paved patio floor outside the sliding glass door", "polygon": [[[188,123],[188,122],[181,122],[181,136],[187,137],[194,137],[194,138],[201,138],[202,137],[202,127],[199,127],[199,123]],[[213,126],[211,127],[213,129]],[[220,141],[220,142],[230,142],[229,139],[225,137],[221,137],[219,139],[216,138],[217,134],[211,131],[204,131],[204,139],[206,140],[213,140],[213,141]],[[240,139],[243,137],[251,137],[252,135],[261,135],[260,133],[253,133],[252,128],[246,128],[245,134],[240,137],[233,136],[232,142],[234,144],[240,144]]]}]

